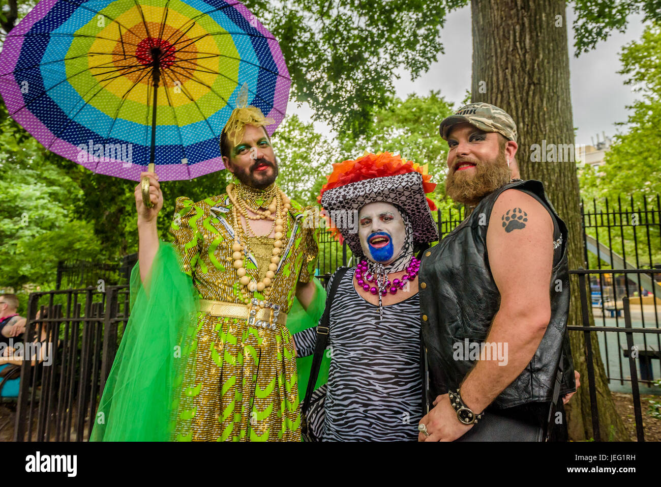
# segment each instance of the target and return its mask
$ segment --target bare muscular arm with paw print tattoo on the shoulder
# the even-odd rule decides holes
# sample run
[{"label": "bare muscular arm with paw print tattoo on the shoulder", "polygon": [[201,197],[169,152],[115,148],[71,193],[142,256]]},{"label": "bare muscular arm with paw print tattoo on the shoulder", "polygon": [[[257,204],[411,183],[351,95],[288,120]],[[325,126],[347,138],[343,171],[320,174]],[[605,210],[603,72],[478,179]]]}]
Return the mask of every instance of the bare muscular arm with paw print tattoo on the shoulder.
[{"label": "bare muscular arm with paw print tattoo on the shoulder", "polygon": [[[516,224],[512,223],[514,208],[518,208]],[[507,353],[501,365],[494,359],[477,361],[461,384],[461,398],[475,412],[483,411],[525,369],[551,319],[551,215],[522,191],[505,191],[494,204],[486,248],[500,291],[500,308],[486,341],[502,343],[503,350],[507,344]]]}]

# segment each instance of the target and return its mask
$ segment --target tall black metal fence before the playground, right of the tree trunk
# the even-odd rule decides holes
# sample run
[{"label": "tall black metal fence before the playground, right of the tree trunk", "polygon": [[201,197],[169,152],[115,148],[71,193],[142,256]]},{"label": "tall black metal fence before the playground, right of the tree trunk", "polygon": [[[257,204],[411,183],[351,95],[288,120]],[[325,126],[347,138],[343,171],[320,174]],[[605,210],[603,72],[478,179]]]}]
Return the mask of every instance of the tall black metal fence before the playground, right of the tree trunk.
[{"label": "tall black metal fence before the playground, right of the tree trunk", "polygon": [[[583,202],[584,261],[598,330],[626,326],[629,302],[641,384],[661,376],[661,198],[659,195]],[[656,330],[656,331],[649,331]],[[613,390],[629,390],[631,355],[622,333],[598,333],[605,371]],[[636,357],[634,357],[636,358]],[[621,387],[624,386],[624,387]],[[631,384],[633,389],[633,384]],[[657,392],[657,391],[651,391]]]}]

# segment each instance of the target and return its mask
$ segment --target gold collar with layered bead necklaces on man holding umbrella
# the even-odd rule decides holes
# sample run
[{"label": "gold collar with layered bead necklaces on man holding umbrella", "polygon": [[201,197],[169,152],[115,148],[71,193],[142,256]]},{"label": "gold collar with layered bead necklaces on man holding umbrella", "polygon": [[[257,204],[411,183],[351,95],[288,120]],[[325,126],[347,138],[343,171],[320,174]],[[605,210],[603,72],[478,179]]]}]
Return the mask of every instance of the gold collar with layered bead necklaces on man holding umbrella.
[{"label": "gold collar with layered bead necklaces on man holding umbrella", "polygon": [[[268,300],[268,296],[271,293],[271,284],[275,278],[278,263],[280,263],[280,253],[284,245],[282,239],[287,233],[287,213],[291,208],[291,201],[280,191],[280,188],[275,183],[264,191],[248,188],[243,184],[234,185],[230,183],[227,185],[227,196],[232,202],[234,228],[236,229],[236,240],[232,245],[232,259],[234,259],[234,269],[236,269],[237,276],[239,277],[239,293],[245,304],[250,304],[251,298],[243,294],[242,288],[246,288],[251,293],[255,291],[261,292],[264,299]],[[264,204],[260,204],[260,202],[264,204],[270,202],[270,204],[266,207],[266,210],[262,211],[259,207],[264,206]],[[253,212],[255,215],[250,212]],[[270,235],[272,230],[276,232],[271,262],[268,265],[266,277],[258,283],[251,279],[243,265],[243,259],[247,258],[249,249],[247,246],[247,237],[241,224],[241,218],[239,218],[240,214],[245,218],[245,222],[249,230],[253,232],[253,235],[254,230],[250,226],[250,220],[272,220],[273,226],[267,235]],[[261,302],[260,307],[263,307]]]}]

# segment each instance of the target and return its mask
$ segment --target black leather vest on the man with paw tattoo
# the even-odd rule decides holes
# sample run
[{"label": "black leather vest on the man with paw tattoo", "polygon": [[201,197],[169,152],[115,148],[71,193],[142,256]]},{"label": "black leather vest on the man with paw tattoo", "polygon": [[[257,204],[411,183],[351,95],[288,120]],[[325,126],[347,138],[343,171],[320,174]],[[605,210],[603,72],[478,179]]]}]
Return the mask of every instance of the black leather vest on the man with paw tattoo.
[{"label": "black leather vest on the man with paw tattoo", "polygon": [[[524,191],[541,202],[553,217],[553,244],[556,248],[549,283],[551,321],[530,363],[490,407],[511,408],[550,401],[562,349],[565,353],[561,394],[574,390],[574,366],[566,329],[570,296],[567,229],[547,199],[541,182],[515,181],[481,200],[468,218],[422,257],[418,279],[422,339],[429,371],[426,391],[429,401],[445,394],[448,388],[455,390],[459,387],[475,361],[470,355],[462,357],[463,360],[455,359],[453,344],[466,343],[466,340],[467,343],[485,341],[500,307],[500,293],[491,276],[486,253],[486,230],[494,202],[503,191],[511,188]],[[516,256],[516,250],[513,250],[513,256]],[[508,350],[508,353],[514,351]]]}]

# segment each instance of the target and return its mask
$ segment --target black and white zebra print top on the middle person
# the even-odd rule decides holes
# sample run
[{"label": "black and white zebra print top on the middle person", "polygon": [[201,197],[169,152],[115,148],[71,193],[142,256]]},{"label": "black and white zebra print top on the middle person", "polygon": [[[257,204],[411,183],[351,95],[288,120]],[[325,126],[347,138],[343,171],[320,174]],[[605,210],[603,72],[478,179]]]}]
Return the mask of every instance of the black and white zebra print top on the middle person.
[{"label": "black and white zebra print top on the middle person", "polygon": [[[379,307],[354,288],[355,270],[344,275],[331,306],[322,438],[414,441],[422,418],[418,294],[383,306],[379,324]],[[315,327],[293,335],[299,357],[314,353],[316,333]]]}]

